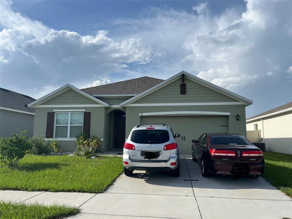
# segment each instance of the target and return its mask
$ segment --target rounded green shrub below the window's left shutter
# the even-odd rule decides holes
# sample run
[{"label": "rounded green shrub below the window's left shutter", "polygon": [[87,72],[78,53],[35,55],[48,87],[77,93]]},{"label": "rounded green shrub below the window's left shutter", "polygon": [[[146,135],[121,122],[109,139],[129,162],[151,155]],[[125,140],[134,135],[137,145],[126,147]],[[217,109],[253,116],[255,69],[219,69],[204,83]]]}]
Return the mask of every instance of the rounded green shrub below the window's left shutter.
[{"label": "rounded green shrub below the window's left shutter", "polygon": [[52,151],[52,145],[50,140],[45,141],[44,135],[34,135],[31,138],[29,138],[29,143],[31,145],[31,152],[36,155],[41,154],[48,154]]}]

